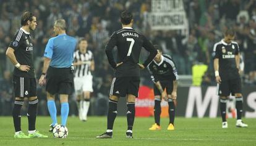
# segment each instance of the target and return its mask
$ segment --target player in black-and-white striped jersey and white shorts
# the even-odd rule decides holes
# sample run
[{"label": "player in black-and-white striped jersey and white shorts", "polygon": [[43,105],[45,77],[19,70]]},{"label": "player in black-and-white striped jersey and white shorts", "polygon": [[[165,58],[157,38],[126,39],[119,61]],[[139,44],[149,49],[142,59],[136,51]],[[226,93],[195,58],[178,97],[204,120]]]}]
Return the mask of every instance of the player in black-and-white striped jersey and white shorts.
[{"label": "player in black-and-white striped jersey and white shorts", "polygon": [[79,105],[79,118],[87,121],[87,113],[90,106],[90,93],[93,92],[92,72],[95,68],[92,51],[87,49],[86,39],[79,41],[79,50],[74,53],[75,78],[74,86]]}]

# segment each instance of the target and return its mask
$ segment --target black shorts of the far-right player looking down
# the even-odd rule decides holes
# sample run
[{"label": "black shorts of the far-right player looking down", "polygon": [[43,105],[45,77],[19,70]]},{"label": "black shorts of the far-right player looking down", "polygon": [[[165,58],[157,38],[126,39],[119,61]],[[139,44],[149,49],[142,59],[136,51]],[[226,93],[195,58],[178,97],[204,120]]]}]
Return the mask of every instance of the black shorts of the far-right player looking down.
[{"label": "black shorts of the far-right player looking down", "polygon": [[235,93],[242,92],[241,79],[228,79],[221,81],[221,84],[217,85],[218,95],[220,96],[228,96],[234,95]]}]

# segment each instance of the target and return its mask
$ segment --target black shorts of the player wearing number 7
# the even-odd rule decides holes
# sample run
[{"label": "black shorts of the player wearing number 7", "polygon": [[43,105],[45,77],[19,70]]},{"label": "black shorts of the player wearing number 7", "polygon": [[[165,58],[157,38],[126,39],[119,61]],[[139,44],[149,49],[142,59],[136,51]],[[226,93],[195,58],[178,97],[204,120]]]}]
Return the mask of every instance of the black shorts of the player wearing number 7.
[{"label": "black shorts of the player wearing number 7", "polygon": [[138,97],[139,86],[139,76],[124,76],[113,78],[109,95],[125,97],[126,94],[132,94],[135,95],[135,97]]}]

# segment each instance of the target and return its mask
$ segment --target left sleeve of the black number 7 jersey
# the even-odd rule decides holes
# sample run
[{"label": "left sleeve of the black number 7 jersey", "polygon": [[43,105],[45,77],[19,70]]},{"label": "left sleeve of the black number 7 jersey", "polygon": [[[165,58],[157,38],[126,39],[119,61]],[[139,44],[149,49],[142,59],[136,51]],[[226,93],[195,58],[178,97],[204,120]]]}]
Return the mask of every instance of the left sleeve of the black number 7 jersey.
[{"label": "left sleeve of the black number 7 jersey", "polygon": [[116,38],[116,33],[114,32],[111,35],[108,41],[108,44],[106,44],[106,47],[105,47],[105,52],[106,52],[106,56],[108,57],[108,62],[113,68],[116,68],[116,62],[114,61],[114,56],[112,54],[112,51],[114,46],[116,46],[116,43],[117,43],[117,38]]}]

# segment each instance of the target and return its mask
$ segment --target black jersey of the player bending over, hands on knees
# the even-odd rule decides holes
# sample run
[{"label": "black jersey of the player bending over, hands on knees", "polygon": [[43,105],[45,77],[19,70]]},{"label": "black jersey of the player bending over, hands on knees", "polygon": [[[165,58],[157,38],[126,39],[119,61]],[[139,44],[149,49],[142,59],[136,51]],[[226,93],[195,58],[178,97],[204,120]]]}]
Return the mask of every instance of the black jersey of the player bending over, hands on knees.
[{"label": "black jersey of the player bending over, hands on knees", "polygon": [[156,63],[155,60],[153,60],[147,67],[148,71],[150,71],[152,81],[156,83],[157,81],[163,82],[179,79],[173,59],[165,54],[163,54],[161,58],[160,63]]}]

